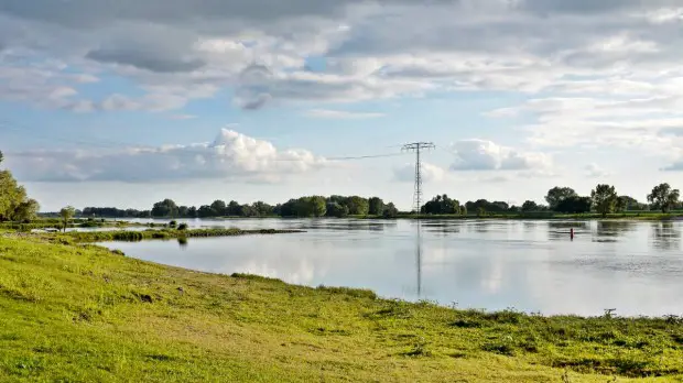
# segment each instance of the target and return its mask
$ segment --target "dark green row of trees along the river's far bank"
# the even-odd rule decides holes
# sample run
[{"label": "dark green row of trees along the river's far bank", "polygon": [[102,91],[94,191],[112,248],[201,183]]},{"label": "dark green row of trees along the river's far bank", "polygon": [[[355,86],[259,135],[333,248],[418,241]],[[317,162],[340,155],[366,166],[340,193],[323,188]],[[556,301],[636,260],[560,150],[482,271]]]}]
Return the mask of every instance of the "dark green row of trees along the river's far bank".
[{"label": "dark green row of trees along the river's far bank", "polygon": [[[447,195],[440,195],[424,204],[420,212],[423,215],[487,215],[516,212],[557,212],[557,214],[587,214],[597,212],[606,216],[611,212],[661,210],[662,212],[681,208],[680,192],[669,184],[661,184],[648,195],[648,203],[639,203],[636,198],[620,196],[611,185],[597,185],[589,196],[579,196],[571,187],[553,187],[545,196],[548,205],[539,205],[528,200],[521,206],[510,206],[503,201],[488,201],[478,199],[460,204]],[[1,208],[1,206],[0,206]],[[0,217],[2,210],[0,210]],[[364,198],[359,196],[306,196],[290,199],[275,206],[257,201],[250,205],[235,200],[225,203],[215,200],[210,205],[199,208],[177,206],[172,199],[164,199],[152,206],[151,210],[94,208],[83,210],[85,217],[155,217],[155,218],[212,218],[212,217],[337,217],[348,216],[382,216],[395,217],[397,207],[386,204],[379,197]]]}]

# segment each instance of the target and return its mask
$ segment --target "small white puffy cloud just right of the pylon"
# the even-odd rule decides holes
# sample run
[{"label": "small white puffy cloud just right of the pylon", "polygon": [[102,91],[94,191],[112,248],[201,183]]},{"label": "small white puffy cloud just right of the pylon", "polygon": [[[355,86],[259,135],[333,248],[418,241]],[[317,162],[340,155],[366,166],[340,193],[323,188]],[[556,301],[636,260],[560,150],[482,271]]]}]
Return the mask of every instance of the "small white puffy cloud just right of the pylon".
[{"label": "small white puffy cloud just right of the pylon", "polygon": [[519,152],[486,140],[463,140],[452,145],[455,162],[451,169],[459,171],[530,171],[552,166],[543,153]]}]

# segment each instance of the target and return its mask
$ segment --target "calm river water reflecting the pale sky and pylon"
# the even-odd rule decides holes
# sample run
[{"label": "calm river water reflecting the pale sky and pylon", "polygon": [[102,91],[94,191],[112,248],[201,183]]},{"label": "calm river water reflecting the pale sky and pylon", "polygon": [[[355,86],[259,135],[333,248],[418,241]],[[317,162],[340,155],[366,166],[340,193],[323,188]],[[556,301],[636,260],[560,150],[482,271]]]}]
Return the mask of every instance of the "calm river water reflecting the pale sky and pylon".
[{"label": "calm river water reflecting the pale sky and pylon", "polygon": [[[683,314],[683,223],[520,220],[178,220],[305,233],[104,243],[198,271],[370,288],[383,297],[528,313]],[[570,238],[570,229],[576,236]]]}]

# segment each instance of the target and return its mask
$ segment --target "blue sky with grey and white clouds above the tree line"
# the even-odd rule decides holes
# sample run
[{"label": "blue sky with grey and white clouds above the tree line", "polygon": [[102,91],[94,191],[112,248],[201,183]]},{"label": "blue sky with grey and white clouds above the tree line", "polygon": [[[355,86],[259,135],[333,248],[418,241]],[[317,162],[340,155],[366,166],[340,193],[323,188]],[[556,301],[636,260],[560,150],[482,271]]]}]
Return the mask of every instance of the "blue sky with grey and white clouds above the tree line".
[{"label": "blue sky with grey and white clouds above the tree line", "polygon": [[[45,211],[683,186],[683,0],[0,0],[0,150]],[[387,156],[380,156],[387,155]],[[348,158],[377,156],[370,158]]]}]

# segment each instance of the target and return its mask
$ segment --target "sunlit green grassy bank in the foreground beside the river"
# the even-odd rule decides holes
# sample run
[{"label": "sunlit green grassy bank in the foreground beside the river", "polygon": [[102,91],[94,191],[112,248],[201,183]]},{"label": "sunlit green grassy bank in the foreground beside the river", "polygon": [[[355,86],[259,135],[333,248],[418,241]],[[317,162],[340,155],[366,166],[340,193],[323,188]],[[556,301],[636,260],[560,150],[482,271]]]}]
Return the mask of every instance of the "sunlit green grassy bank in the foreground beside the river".
[{"label": "sunlit green grassy bank in the foreground beside the river", "polygon": [[379,299],[0,237],[4,382],[681,382],[683,320]]}]

